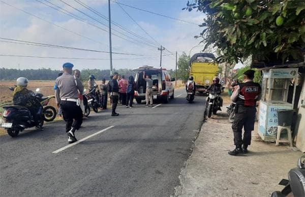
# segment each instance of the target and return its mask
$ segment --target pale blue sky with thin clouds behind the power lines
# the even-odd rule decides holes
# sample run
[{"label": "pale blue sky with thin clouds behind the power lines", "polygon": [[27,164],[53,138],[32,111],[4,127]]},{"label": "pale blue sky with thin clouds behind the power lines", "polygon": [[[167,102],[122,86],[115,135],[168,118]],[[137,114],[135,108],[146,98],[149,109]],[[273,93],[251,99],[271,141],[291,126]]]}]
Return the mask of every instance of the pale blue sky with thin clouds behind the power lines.
[{"label": "pale blue sky with thin clouds behind the power lines", "polygon": [[[106,20],[108,18],[108,1],[79,0],[106,16],[106,19],[103,19],[101,16],[81,6],[75,0],[47,1],[60,8],[66,9],[82,21],[40,3],[43,2],[52,6],[45,0],[0,0],[0,37],[74,48],[109,51],[108,20]],[[64,2],[92,18],[73,9]],[[181,9],[186,7],[187,4],[187,1],[185,0],[117,0],[117,2],[196,24],[201,24],[204,19],[203,13],[196,11],[188,12],[186,10],[182,11]],[[8,6],[5,3],[22,9],[29,14]],[[133,21],[115,2],[111,2],[110,6],[112,22],[125,27],[128,31],[136,34],[135,37],[112,24],[112,52],[133,54],[112,54],[114,69],[133,69],[141,65],[159,67],[160,51],[158,50],[158,46],[160,47],[160,45],[163,45],[167,49],[163,51],[162,67],[166,69],[175,69],[175,51],[178,52],[178,56],[181,55],[182,52],[189,54],[190,50],[200,42],[200,39],[194,38],[194,36],[199,35],[203,30],[203,28],[198,25],[153,15],[121,5],[121,7],[123,7],[134,19]],[[34,17],[33,15],[49,22]],[[89,25],[84,21],[94,23],[94,25]],[[135,22],[138,23],[141,28]],[[144,32],[143,29],[147,33]],[[114,34],[125,39],[119,38]],[[141,40],[139,36],[145,39],[145,41],[143,41],[143,39]],[[133,40],[130,37],[136,40]],[[0,39],[0,41],[8,40]],[[202,49],[203,47],[193,48],[191,50],[191,55],[200,52]],[[62,69],[62,64],[64,62],[72,62],[75,65],[75,68],[79,70],[104,70],[110,68],[109,53],[0,42],[0,54],[65,57],[63,59],[52,59],[0,56],[0,68],[21,70],[51,68],[52,70],[60,70]],[[72,57],[101,59],[71,59]]]}]

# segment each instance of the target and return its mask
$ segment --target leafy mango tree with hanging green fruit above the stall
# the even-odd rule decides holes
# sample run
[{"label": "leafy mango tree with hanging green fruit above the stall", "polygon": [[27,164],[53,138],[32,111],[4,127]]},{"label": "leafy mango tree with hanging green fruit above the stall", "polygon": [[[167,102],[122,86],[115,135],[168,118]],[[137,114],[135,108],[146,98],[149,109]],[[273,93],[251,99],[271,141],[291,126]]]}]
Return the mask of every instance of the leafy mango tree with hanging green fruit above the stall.
[{"label": "leafy mango tree with hanging green fruit above the stall", "polygon": [[199,36],[214,45],[220,62],[253,60],[283,63],[301,61],[305,49],[305,1],[195,0],[188,11],[206,14]]}]

